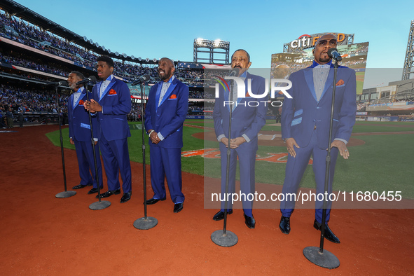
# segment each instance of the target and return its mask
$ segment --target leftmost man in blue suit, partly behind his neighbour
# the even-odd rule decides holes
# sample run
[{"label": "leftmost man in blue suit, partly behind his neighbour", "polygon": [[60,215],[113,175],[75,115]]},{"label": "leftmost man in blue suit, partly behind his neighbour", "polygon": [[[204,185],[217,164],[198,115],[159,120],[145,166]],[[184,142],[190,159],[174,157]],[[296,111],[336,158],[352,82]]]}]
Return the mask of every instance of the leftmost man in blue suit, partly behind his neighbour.
[{"label": "leftmost man in blue suit, partly behind his neighbour", "polygon": [[[74,186],[74,189],[92,186],[88,194],[97,193],[97,177],[95,170],[95,161],[93,159],[92,137],[90,134],[89,113],[83,107],[83,104],[88,100],[86,90],[83,85],[76,85],[78,81],[85,78],[81,72],[71,71],[67,78],[69,87],[74,90],[74,93],[68,98],[67,111],[69,118],[69,141],[75,145],[76,156],[78,158],[79,176],[81,177],[81,184]],[[89,97],[92,97],[90,92]],[[97,169],[99,187],[104,188],[102,182],[102,165],[99,158],[99,146],[97,145],[97,120],[92,117],[92,130],[95,139],[95,152],[97,154]],[[92,174],[92,175],[91,175]]]}]

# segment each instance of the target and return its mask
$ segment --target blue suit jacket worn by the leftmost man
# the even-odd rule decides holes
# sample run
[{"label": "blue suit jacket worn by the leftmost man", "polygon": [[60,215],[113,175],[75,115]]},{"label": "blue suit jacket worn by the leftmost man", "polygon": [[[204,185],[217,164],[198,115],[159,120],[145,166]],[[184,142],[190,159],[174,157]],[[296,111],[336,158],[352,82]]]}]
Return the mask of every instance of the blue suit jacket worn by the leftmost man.
[{"label": "blue suit jacket worn by the leftmost man", "polygon": [[[89,98],[92,98],[92,94],[89,93]],[[90,122],[89,114],[83,108],[83,102],[85,102],[88,97],[85,94],[81,94],[79,97],[76,106],[74,107],[74,95],[72,94],[68,98],[68,118],[69,118],[69,137],[76,139],[77,141],[90,142]],[[92,130],[93,137],[97,138],[97,119],[92,117]]]}]

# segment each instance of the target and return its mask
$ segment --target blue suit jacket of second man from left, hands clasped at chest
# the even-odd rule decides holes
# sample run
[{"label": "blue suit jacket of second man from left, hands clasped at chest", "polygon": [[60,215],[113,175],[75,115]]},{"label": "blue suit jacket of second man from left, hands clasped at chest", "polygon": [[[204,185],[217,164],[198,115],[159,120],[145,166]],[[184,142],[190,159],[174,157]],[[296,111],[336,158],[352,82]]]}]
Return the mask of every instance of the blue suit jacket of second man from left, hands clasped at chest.
[{"label": "blue suit jacket of second man from left, hands clasped at chest", "polygon": [[131,111],[130,89],[123,81],[113,77],[103,97],[99,99],[101,84],[102,81],[99,81],[92,88],[93,99],[99,102],[103,109],[103,112],[97,114],[101,130],[98,132],[98,139],[100,135],[104,135],[108,141],[130,137],[131,132],[127,122],[127,114]]}]

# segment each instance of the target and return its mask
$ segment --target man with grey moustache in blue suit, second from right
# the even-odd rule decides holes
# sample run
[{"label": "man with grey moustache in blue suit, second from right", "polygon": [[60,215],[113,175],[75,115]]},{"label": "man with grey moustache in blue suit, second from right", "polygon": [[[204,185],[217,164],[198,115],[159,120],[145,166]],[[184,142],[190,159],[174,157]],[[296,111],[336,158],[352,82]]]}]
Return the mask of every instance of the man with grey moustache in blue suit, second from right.
[{"label": "man with grey moustache in blue suit, second from right", "polygon": [[[265,100],[268,95],[261,98],[251,97],[249,93],[262,95],[265,91],[265,79],[261,76],[249,74],[247,69],[251,65],[250,55],[246,50],[236,50],[231,57],[231,67],[238,68],[237,81],[230,81],[230,92],[233,92],[233,103],[230,103],[230,92],[228,89],[219,90],[219,98],[216,98],[213,111],[214,130],[220,142],[221,156],[221,198],[226,193],[226,168],[227,168],[227,146],[230,138],[230,170],[228,180],[228,193],[235,193],[235,172],[237,157],[240,163],[240,191],[246,195],[242,198],[244,211],[244,222],[247,227],[254,228],[256,221],[251,211],[253,201],[249,200],[248,195],[254,195],[254,165],[256,163],[256,151],[258,149],[257,134],[265,125],[265,115],[268,107]],[[251,91],[247,93],[248,83],[251,80]],[[233,82],[233,83],[232,83]],[[242,84],[244,83],[244,89]],[[240,88],[238,86],[241,86]],[[237,97],[237,88],[242,90],[244,97]],[[236,98],[237,97],[237,98]],[[258,103],[258,104],[257,104]],[[230,108],[232,109],[231,135],[228,137]],[[230,196],[231,198],[231,196]],[[221,210],[217,212],[213,219],[220,221],[224,218],[224,204],[221,202]],[[231,201],[228,202],[228,214],[233,213]]]}]

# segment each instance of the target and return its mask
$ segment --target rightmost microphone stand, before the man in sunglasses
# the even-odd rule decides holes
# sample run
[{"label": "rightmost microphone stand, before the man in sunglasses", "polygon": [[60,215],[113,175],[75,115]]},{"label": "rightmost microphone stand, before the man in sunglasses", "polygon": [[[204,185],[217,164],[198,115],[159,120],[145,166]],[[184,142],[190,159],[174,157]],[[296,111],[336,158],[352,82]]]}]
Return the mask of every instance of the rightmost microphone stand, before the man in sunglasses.
[{"label": "rightmost microphone stand, before the man in sunglasses", "polygon": [[[328,155],[326,156],[326,171],[325,171],[325,186],[324,194],[327,195],[329,187],[329,167],[331,166],[331,139],[332,139],[332,126],[333,126],[333,108],[335,106],[335,92],[336,92],[336,74],[338,71],[338,60],[335,60],[333,67],[333,91],[332,91],[332,104],[331,104],[331,123],[329,125],[329,140],[328,140]],[[322,211],[322,226],[321,226],[321,240],[319,247],[305,247],[303,249],[303,255],[305,258],[315,265],[319,265],[322,268],[338,268],[339,260],[331,252],[324,250],[324,235],[325,235],[325,222],[326,222],[326,205],[328,200],[324,197],[324,205]]]}]

